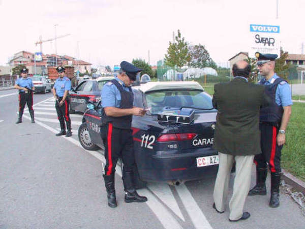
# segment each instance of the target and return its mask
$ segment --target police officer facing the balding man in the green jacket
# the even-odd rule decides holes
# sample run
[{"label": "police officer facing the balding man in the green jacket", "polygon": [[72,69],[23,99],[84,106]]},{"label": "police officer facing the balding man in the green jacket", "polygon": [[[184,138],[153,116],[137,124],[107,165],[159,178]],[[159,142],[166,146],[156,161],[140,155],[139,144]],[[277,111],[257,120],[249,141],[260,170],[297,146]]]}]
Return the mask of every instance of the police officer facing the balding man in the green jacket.
[{"label": "police officer facing the balding man in the green jacket", "polygon": [[275,73],[277,54],[255,53],[257,67],[264,78],[259,84],[271,98],[269,106],[260,110],[262,154],[256,155],[256,185],[249,195],[266,195],[267,163],[271,171],[271,208],[280,205],[281,150],[285,144],[285,133],[291,115],[291,90],[289,84]]}]

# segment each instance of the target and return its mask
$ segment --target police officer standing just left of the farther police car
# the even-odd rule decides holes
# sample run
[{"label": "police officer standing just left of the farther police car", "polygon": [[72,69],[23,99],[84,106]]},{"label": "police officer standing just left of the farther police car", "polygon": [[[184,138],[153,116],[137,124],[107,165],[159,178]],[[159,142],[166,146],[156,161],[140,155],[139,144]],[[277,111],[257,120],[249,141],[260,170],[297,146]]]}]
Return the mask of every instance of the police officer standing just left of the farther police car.
[{"label": "police officer standing just left of the farther police car", "polygon": [[[60,132],[55,134],[56,136],[65,135],[66,137],[72,136],[71,131],[71,119],[69,115],[69,91],[71,89],[71,81],[68,77],[65,76],[65,68],[59,66],[56,68],[58,72],[58,78],[54,83],[52,89],[54,98],[55,98],[55,108],[57,112],[57,118],[60,123]],[[67,132],[65,127],[65,120],[67,123]]]}]

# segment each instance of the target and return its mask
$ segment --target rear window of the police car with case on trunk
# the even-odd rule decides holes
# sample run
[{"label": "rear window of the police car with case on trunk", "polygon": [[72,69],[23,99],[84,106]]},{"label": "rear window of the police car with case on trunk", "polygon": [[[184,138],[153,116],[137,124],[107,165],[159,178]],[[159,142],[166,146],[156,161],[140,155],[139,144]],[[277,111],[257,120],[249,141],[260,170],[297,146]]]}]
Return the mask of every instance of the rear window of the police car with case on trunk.
[{"label": "rear window of the police car with case on trunk", "polygon": [[152,115],[157,115],[165,106],[192,107],[209,110],[213,108],[212,99],[202,91],[175,90],[157,91],[145,94],[147,107]]}]

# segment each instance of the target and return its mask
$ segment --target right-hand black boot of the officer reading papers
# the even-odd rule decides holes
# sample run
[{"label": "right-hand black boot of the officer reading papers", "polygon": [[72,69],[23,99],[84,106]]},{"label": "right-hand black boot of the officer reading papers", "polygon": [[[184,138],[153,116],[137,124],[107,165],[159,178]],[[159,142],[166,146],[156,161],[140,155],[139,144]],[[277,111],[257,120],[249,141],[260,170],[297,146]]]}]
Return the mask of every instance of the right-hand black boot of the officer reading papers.
[{"label": "right-hand black boot of the officer reading papers", "polygon": [[146,202],[145,196],[140,196],[134,186],[133,171],[123,171],[123,183],[125,189],[125,202]]}]

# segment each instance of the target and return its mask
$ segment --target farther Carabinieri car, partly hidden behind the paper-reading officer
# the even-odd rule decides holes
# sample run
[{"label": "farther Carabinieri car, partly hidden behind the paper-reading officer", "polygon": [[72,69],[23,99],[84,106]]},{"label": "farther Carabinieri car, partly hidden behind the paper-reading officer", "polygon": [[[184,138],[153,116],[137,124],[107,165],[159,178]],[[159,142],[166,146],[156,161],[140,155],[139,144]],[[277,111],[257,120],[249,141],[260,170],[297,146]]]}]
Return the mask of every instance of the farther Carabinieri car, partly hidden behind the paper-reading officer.
[{"label": "farther Carabinieri car, partly hidden behind the paper-reading officer", "polygon": [[88,102],[98,104],[101,100],[103,85],[113,77],[99,77],[93,80],[82,81],[75,89],[70,91],[70,113],[84,112]]}]

